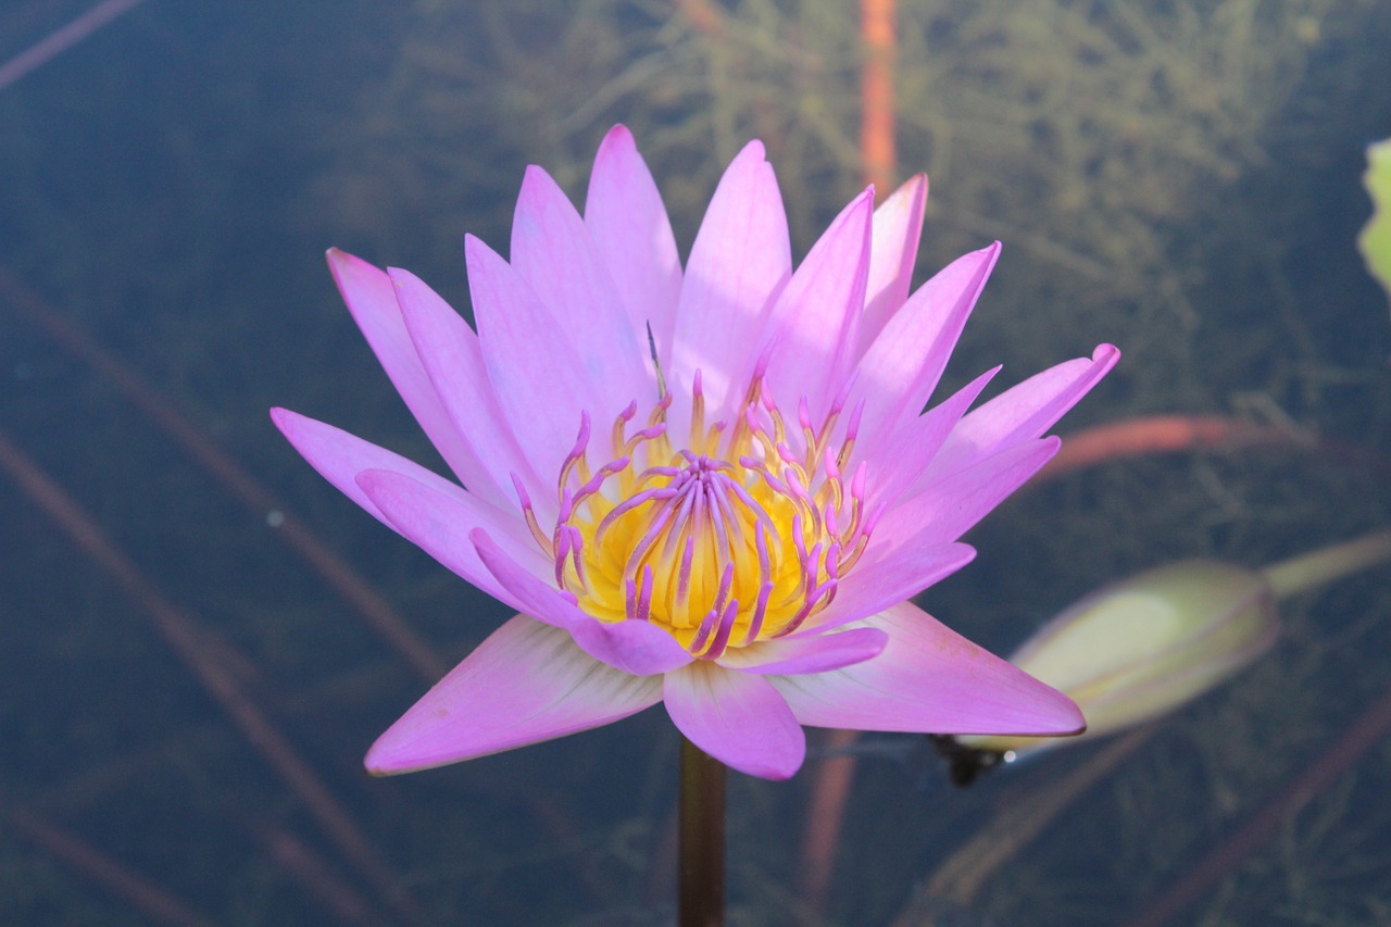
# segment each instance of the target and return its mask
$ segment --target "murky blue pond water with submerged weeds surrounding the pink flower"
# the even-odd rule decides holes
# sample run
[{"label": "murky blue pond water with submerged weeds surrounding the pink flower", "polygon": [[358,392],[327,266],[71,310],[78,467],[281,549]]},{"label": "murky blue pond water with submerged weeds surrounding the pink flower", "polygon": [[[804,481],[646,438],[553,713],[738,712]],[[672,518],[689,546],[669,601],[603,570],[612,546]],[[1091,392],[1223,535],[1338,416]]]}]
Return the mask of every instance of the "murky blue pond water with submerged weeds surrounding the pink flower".
[{"label": "murky blue pond water with submerged weeds surrounding the pink flower", "polygon": [[[163,6],[145,4],[122,28],[157,33],[189,72],[204,46],[232,54]],[[313,38],[320,67],[359,56],[345,85],[298,71],[287,39],[218,71],[224,82],[200,88],[196,106],[147,100],[140,125],[163,146],[177,196],[129,164],[103,177],[100,195],[45,192],[45,152],[86,149],[71,145],[82,127],[64,122],[58,85],[35,75],[0,97],[33,135],[0,141],[0,166],[25,180],[0,200],[24,231],[7,238],[7,267],[199,411],[227,450],[302,501],[305,521],[442,657],[458,657],[499,615],[480,617],[481,597],[302,475],[264,420],[271,397],[292,398],[396,450],[424,448],[342,319],[316,251],[410,266],[466,305],[463,232],[508,239],[520,166],[558,167],[579,199],[594,148],[623,121],[683,251],[716,171],[758,136],[804,253],[860,185],[853,7],[416,0],[381,31],[359,15]],[[266,39],[262,26],[228,28],[218,35]],[[993,363],[1003,347],[1013,380],[1107,340],[1125,362],[1072,427],[1200,412],[1288,437],[1278,448],[1146,457],[1032,490],[968,537],[981,561],[921,605],[1008,651],[1114,578],[1182,557],[1266,564],[1391,522],[1391,337],[1384,294],[1353,248],[1369,209],[1363,150],[1391,125],[1380,89],[1388,46],[1391,24],[1373,0],[900,0],[900,180],[926,170],[932,181],[918,266],[992,238],[1006,246],[958,369]],[[50,67],[85,74],[67,58]],[[267,88],[287,78],[299,89],[267,113],[259,95],[271,99]],[[253,170],[270,160],[294,170],[273,180]],[[149,214],[129,207],[142,198]],[[124,239],[110,234],[114,214],[131,223]],[[143,263],[127,251],[136,244],[149,249]],[[235,270],[264,256],[277,274],[303,264],[307,283],[257,290],[255,274]],[[262,514],[234,511],[83,362],[13,316],[0,324],[15,384],[0,397],[4,429],[86,493],[117,540],[217,629],[210,637],[248,656],[230,658],[235,675],[305,745],[427,914],[664,923],[676,750],[664,720],[640,715],[410,782],[363,782],[362,750],[417,695],[416,675],[303,578]],[[346,397],[345,379],[376,387]],[[344,859],[302,800],[210,714],[100,571],[74,566],[43,515],[8,482],[3,493],[17,514],[0,575],[22,617],[0,664],[21,695],[6,700],[0,729],[26,749],[7,761],[0,802],[63,821],[218,920],[321,913],[284,864],[305,859],[291,838],[330,871]],[[33,576],[46,578],[42,589]],[[958,793],[926,750],[908,766],[865,756],[828,923],[908,913],[942,924],[1117,923],[1257,816],[1384,695],[1388,614],[1384,571],[1292,600],[1285,637],[1262,663],[1152,732],[970,895],[914,892],[946,884],[971,835],[1008,824],[1000,809],[1079,775],[1102,747],[1039,757]],[[1373,747],[1228,873],[1195,923],[1385,917],[1377,863],[1391,813],[1376,809],[1391,809],[1388,764],[1384,745]],[[732,781],[733,923],[812,913],[797,856],[810,782]],[[616,793],[627,799],[601,798]],[[0,920],[124,914],[39,845],[0,834]],[[338,891],[341,920],[355,920],[355,892],[370,908],[369,889]]]}]

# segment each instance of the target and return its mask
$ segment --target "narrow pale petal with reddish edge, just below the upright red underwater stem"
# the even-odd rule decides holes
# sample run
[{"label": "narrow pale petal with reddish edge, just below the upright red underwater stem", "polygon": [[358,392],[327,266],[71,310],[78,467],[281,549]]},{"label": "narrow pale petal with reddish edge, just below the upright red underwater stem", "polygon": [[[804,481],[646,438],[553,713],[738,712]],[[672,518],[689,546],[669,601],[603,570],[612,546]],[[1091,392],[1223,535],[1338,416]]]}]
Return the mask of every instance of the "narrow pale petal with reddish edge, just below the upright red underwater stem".
[{"label": "narrow pale petal with reddish edge, just below the upright red underwater stem", "polygon": [[889,316],[908,298],[926,207],[928,175],[914,174],[874,210],[874,252],[860,323],[862,347],[874,342]]}]

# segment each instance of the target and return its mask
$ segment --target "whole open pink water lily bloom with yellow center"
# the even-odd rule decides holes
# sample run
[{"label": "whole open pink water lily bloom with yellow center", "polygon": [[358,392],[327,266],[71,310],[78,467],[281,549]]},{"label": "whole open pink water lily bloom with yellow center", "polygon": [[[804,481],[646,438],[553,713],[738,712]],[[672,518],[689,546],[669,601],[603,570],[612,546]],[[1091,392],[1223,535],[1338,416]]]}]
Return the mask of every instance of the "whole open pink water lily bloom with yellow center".
[{"label": "whole open pink water lily bloom with yellow center", "polygon": [[[1068,734],[1063,695],[908,599],[1057,450],[1040,437],[1117,351],[968,412],[990,370],[922,413],[999,255],[908,295],[926,202],[867,189],[793,270],[750,142],[683,269],[632,135],[581,216],[522,184],[510,260],[467,238],[477,333],[420,280],[338,251],[369,344],[453,476],[275,409],[367,512],[515,608],[367,753],[406,772],[594,728],[658,702],[700,749],[786,778],[801,725]],[[460,484],[462,483],[462,484]]]}]

